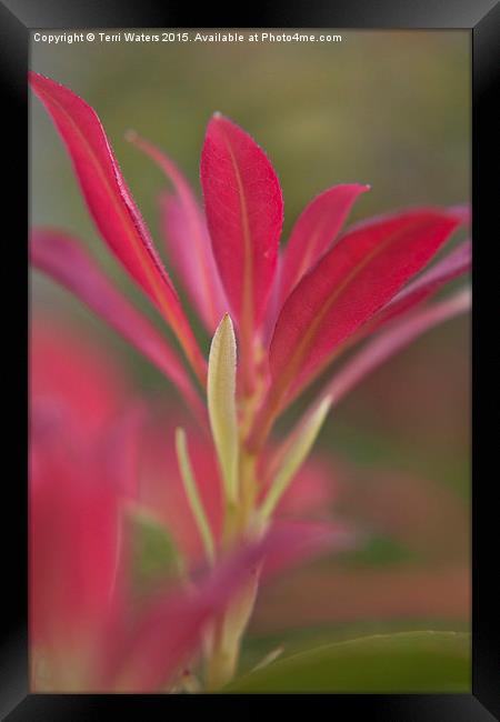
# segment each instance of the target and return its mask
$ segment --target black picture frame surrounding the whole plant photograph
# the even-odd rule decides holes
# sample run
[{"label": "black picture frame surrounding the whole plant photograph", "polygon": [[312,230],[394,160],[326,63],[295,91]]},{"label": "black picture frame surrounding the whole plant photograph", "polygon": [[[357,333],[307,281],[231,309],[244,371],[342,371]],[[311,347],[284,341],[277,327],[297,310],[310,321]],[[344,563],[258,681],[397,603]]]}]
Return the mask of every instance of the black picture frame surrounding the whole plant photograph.
[{"label": "black picture frame surrounding the whole plant photograph", "polygon": [[[250,8],[248,8],[250,9]],[[472,156],[472,198],[473,198],[473,235],[474,235],[474,310],[473,310],[473,521],[472,521],[472,693],[471,694],[420,694],[420,695],[372,695],[343,694],[327,695],[331,714],[342,712],[366,715],[370,720],[403,722],[411,720],[446,722],[484,722],[500,719],[500,664],[498,654],[498,593],[494,595],[492,579],[496,573],[493,561],[494,544],[498,539],[498,511],[489,495],[497,485],[498,474],[493,453],[494,425],[484,424],[484,414],[493,421],[494,361],[498,355],[491,353],[479,341],[480,320],[484,309],[496,309],[491,290],[497,283],[483,280],[488,272],[489,248],[496,239],[492,233],[491,214],[497,211],[499,201],[497,183],[481,179],[487,178],[488,169],[498,171],[499,119],[494,113],[494,100],[498,96],[498,74],[500,70],[500,3],[498,0],[313,0],[311,2],[286,3],[277,1],[268,7],[260,17],[256,16],[256,6],[251,3],[252,17],[244,18],[247,8],[239,8],[242,14],[238,19],[230,17],[230,11],[217,19],[216,9],[210,6],[210,17],[203,18],[202,10],[197,11],[197,26],[222,28],[366,28],[366,29],[451,29],[470,31],[472,43],[473,77],[473,156]],[[11,369],[4,372],[6,379],[20,378],[20,388],[26,389],[27,364],[20,358],[27,354],[26,319],[28,318],[27,289],[27,176],[28,176],[28,86],[27,69],[29,60],[29,33],[32,29],[43,28],[112,28],[112,27],[192,27],[189,8],[179,8],[171,2],[154,3],[141,0],[129,3],[118,0],[88,0],[78,2],[64,0],[2,0],[0,2],[0,77],[4,100],[2,102],[3,142],[14,149],[13,161],[8,168],[8,205],[9,248],[6,251],[16,257],[9,268],[19,269],[16,294],[16,314],[12,313],[12,295],[9,294],[4,305],[9,312],[4,315],[4,333],[11,348],[8,361]],[[497,92],[496,92],[497,91]],[[496,120],[497,118],[497,120]],[[497,123],[497,128],[496,124]],[[17,139],[14,142],[14,138]],[[7,140],[9,139],[9,140]],[[12,139],[12,140],[10,140]],[[6,173],[6,169],[4,169]],[[494,173],[491,174],[494,178]],[[3,199],[6,202],[6,199]],[[6,210],[3,211],[6,213]],[[7,239],[4,240],[7,245]],[[484,275],[483,275],[484,273]],[[9,272],[10,274],[10,272]],[[6,278],[6,275],[4,275]],[[12,279],[13,279],[12,271]],[[10,279],[12,283],[12,279]],[[491,289],[488,291],[488,289]],[[488,298],[490,293],[491,298]],[[497,301],[498,303],[498,301]],[[26,311],[26,314],[24,314]],[[23,315],[24,314],[24,315]],[[20,320],[19,315],[23,315]],[[498,328],[498,322],[497,322]],[[496,331],[498,333],[498,331]],[[14,342],[12,342],[13,344]],[[498,368],[498,363],[497,363]],[[491,371],[489,374],[488,371]],[[491,383],[492,385],[487,385]],[[77,694],[30,694],[28,685],[28,632],[27,632],[27,404],[22,392],[17,395],[14,408],[9,415],[9,434],[21,440],[21,453],[13,470],[4,474],[3,509],[12,522],[2,523],[6,539],[2,544],[2,605],[0,639],[0,716],[10,722],[29,720],[30,722],[57,722],[69,720],[108,720],[130,714],[133,719],[164,719],[171,709],[184,705],[194,711],[200,698],[197,695],[77,695]],[[481,409],[479,410],[479,405]],[[480,421],[481,419],[481,421]],[[479,430],[479,423],[481,429]],[[486,428],[487,427],[487,428]],[[498,443],[498,442],[497,442]],[[491,465],[488,464],[488,452]],[[9,449],[9,454],[11,449]],[[481,471],[483,460],[486,472]],[[21,460],[19,462],[19,459]],[[498,574],[497,574],[498,575]],[[260,705],[264,695],[246,696],[244,706],[250,711]],[[316,704],[323,695],[294,695],[293,705]],[[274,704],[276,696],[267,698],[266,704]],[[202,704],[209,712],[213,704],[222,704],[228,710],[238,708],[239,695],[203,695]],[[273,701],[274,700],[274,701]],[[322,700],[324,701],[324,700]],[[282,702],[280,701],[280,704]],[[179,706],[178,706],[179,705]],[[299,712],[299,709],[297,709]],[[338,716],[343,719],[343,716]]]}]

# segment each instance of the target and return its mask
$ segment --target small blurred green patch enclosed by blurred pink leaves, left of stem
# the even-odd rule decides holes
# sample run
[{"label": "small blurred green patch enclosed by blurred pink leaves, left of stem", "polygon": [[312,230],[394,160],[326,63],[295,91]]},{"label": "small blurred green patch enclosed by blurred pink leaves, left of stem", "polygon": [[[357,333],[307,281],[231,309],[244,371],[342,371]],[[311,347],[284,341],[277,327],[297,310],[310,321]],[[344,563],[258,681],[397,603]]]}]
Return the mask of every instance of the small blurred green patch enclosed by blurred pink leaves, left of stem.
[{"label": "small blurred green patch enclosed by blurred pink leaves, left of stem", "polygon": [[139,595],[168,579],[182,576],[184,563],[168,529],[148,511],[129,509],[132,534],[132,579]]}]

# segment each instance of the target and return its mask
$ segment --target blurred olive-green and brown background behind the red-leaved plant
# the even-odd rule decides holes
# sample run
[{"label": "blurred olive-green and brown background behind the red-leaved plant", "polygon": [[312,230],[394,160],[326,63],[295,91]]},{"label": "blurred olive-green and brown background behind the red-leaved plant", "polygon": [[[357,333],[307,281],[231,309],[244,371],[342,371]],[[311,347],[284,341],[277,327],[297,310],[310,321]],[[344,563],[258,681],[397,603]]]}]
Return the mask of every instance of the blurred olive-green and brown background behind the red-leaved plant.
[{"label": "blurred olive-green and brown background behind the red-leaved plant", "polygon": [[[157,240],[164,180],[124,133],[134,129],[163,147],[199,189],[204,128],[216,110],[246,128],[277,169],[283,240],[304,204],[339,182],[372,187],[351,220],[469,201],[469,61],[463,31],[349,31],[341,43],[323,44],[31,43],[31,68],[98,111]],[[147,309],[100,243],[36,100],[30,143],[32,224],[86,239]],[[159,372],[38,273],[31,305],[91,333],[139,393],[168,402]],[[468,629],[469,355],[468,319],[448,322],[374,372],[330,415],[319,450],[331,464],[334,510],[362,525],[368,540],[263,592],[246,664],[274,642],[294,649],[311,636]]]}]

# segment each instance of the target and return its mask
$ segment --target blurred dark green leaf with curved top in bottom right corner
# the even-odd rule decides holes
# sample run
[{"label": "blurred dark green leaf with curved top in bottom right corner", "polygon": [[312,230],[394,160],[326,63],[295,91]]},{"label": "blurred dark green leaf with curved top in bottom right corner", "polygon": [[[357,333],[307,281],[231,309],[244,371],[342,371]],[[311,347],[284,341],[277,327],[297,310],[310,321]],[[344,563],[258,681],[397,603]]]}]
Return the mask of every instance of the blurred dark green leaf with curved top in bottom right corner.
[{"label": "blurred dark green leaf with curved top in bottom right corner", "polygon": [[470,656],[464,632],[378,634],[278,660],[224,692],[470,692]]}]

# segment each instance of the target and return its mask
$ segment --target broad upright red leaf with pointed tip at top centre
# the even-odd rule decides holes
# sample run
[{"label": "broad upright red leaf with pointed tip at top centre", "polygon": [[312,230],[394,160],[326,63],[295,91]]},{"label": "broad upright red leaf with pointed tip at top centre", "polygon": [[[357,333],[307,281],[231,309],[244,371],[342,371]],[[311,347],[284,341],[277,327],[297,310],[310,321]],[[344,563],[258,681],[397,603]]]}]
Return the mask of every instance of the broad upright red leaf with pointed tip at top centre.
[{"label": "broad upright red leaf with pointed tip at top centre", "polygon": [[233,122],[211,119],[201,156],[207,221],[220,277],[242,335],[260,324],[283,220],[280,183],[264,152]]}]

